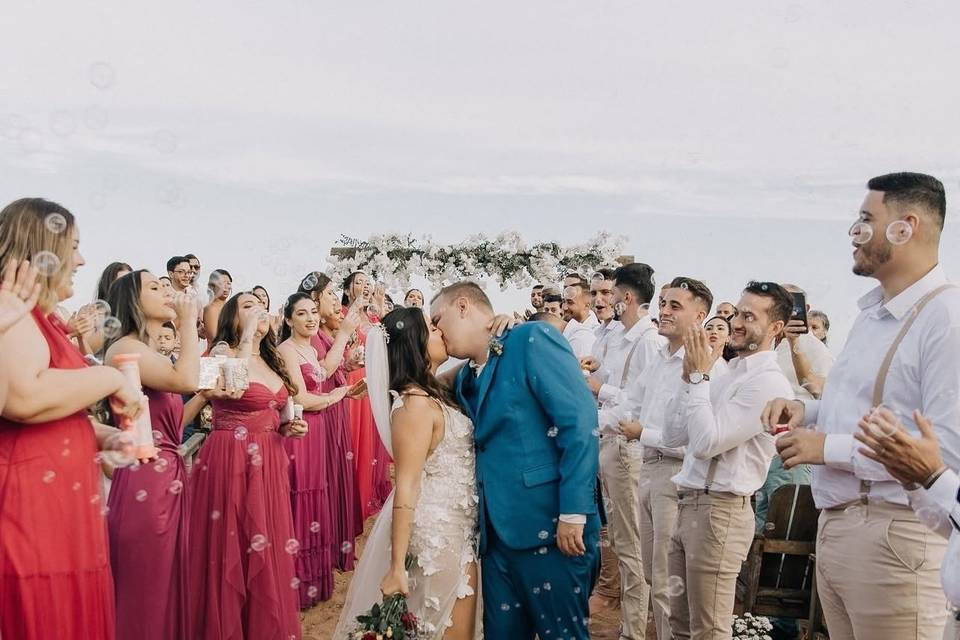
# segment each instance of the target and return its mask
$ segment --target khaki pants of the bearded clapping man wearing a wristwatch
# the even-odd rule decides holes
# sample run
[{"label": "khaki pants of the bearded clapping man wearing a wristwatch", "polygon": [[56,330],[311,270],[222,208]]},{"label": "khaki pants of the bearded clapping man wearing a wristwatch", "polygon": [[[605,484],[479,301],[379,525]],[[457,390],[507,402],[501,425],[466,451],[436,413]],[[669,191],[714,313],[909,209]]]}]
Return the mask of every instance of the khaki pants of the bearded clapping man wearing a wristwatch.
[{"label": "khaki pants of the bearded clapping man wearing a wristwatch", "polygon": [[737,575],[753,526],[748,497],[680,490],[667,578],[673,640],[733,637]]}]

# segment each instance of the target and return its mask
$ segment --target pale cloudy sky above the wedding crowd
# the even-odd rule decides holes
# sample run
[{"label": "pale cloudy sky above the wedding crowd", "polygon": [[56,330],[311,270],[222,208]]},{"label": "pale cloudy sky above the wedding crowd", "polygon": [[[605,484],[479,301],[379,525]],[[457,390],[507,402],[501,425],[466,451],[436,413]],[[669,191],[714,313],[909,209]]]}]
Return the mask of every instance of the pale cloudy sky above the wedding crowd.
[{"label": "pale cloudy sky above the wedding crowd", "polygon": [[799,284],[836,349],[874,284],[846,236],[870,177],[944,181],[957,272],[957,24],[914,0],[7,3],[0,198],[77,215],[72,307],[113,260],[193,252],[277,301],[341,234],[607,230],[720,300]]}]

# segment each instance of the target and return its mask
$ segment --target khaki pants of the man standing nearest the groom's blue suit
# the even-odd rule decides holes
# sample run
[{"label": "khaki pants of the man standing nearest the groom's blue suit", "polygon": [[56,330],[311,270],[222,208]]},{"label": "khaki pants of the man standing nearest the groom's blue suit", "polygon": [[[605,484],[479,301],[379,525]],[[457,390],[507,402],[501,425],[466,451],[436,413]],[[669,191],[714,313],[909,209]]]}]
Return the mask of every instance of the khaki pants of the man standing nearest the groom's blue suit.
[{"label": "khaki pants of the man standing nearest the groom's blue suit", "polygon": [[636,445],[624,438],[606,436],[600,441],[600,475],[611,508],[607,535],[620,567],[620,637],[643,640],[647,632],[649,591],[643,578],[640,550],[640,468],[643,458]]}]

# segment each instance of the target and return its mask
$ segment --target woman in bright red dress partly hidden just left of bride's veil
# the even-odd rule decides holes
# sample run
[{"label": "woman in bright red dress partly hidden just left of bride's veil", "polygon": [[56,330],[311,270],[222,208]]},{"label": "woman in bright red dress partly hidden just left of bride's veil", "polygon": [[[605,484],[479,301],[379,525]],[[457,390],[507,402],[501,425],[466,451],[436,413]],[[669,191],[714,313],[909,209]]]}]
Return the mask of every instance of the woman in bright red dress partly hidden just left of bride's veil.
[{"label": "woman in bright red dress partly hidden just left of bride's veil", "polygon": [[[361,271],[351,273],[343,283],[343,307],[367,306],[370,302],[379,303],[380,308],[371,309],[372,315],[382,312],[383,291],[378,287],[377,295],[372,293],[373,287],[367,275]],[[376,299],[375,299],[376,298]],[[370,305],[371,307],[374,305]],[[361,316],[361,324],[357,329],[357,340],[363,346],[367,340],[367,329],[370,327],[370,318],[367,314]],[[367,375],[362,366],[347,374],[347,383],[356,384]],[[380,507],[390,495],[390,454],[380,442],[376,425],[373,423],[373,411],[367,398],[350,400],[347,403],[350,415],[350,428],[353,432],[353,449],[356,453],[354,464],[357,469],[357,488],[360,492],[360,506],[363,509],[363,518],[380,511]]]}]

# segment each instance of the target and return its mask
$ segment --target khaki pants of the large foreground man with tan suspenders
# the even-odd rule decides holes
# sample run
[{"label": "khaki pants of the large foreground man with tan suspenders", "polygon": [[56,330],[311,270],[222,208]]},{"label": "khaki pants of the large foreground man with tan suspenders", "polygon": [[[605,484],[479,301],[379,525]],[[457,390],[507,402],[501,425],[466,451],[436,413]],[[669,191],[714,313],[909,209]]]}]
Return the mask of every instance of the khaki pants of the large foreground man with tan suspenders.
[{"label": "khaki pants of the large foreground man with tan suspenders", "polygon": [[823,511],[817,590],[830,640],[941,640],[946,546],[908,507]]}]

